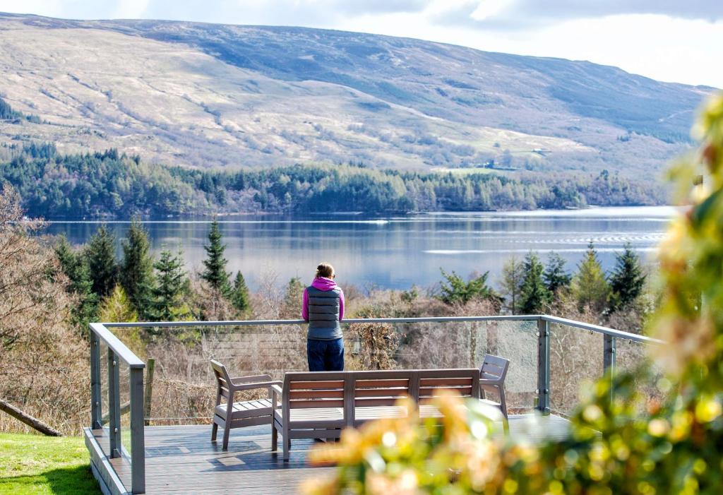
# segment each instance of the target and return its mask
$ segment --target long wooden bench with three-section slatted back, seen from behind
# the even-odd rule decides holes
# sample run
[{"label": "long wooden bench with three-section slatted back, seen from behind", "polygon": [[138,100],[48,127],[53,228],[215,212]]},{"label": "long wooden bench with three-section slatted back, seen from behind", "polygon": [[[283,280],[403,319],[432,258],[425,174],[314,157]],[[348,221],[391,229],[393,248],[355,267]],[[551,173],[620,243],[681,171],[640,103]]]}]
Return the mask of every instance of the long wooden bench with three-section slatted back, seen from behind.
[{"label": "long wooden bench with three-section slatted back, seen from behind", "polygon": [[[411,411],[397,405],[401,397],[419,403],[420,416],[439,416],[425,402],[443,389],[479,398],[479,369],[287,373],[283,387],[271,386],[273,429],[281,434],[288,460],[292,439],[338,439],[348,426],[408,416]],[[275,450],[277,436],[271,441]]]}]

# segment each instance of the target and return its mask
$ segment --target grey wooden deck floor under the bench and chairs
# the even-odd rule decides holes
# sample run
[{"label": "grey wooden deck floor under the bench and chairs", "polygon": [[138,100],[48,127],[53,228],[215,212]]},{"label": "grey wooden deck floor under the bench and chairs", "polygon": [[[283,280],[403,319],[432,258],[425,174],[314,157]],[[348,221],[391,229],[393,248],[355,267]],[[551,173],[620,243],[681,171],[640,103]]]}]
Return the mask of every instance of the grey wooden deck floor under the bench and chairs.
[{"label": "grey wooden deck floor under the bench and chairs", "polygon": [[[526,434],[532,439],[545,436],[562,438],[568,421],[558,416],[539,418],[530,426],[530,416],[510,416],[510,434]],[[210,425],[147,426],[145,428],[145,468],[147,494],[298,494],[301,480],[316,478],[333,468],[313,468],[306,462],[311,440],[294,440],[291,459],[281,459],[271,452],[271,426],[252,426],[231,431],[228,452],[221,449],[221,439],[210,442]],[[108,452],[108,438],[103,431],[86,430],[86,444],[91,450],[96,478],[105,477],[103,462],[93,459],[93,443]],[[125,486],[130,486],[127,460],[108,460]],[[106,483],[108,493],[124,493]]]}]

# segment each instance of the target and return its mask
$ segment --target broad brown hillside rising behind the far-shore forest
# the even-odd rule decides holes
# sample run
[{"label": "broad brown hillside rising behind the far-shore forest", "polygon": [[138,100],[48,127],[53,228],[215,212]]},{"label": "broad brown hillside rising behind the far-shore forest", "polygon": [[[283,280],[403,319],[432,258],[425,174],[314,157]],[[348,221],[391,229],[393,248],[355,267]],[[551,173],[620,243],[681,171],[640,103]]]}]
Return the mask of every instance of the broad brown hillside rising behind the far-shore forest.
[{"label": "broad brown hillside rising behind the far-shore forest", "polygon": [[199,168],[656,173],[713,90],[586,61],[303,27],[0,14],[6,147]]}]

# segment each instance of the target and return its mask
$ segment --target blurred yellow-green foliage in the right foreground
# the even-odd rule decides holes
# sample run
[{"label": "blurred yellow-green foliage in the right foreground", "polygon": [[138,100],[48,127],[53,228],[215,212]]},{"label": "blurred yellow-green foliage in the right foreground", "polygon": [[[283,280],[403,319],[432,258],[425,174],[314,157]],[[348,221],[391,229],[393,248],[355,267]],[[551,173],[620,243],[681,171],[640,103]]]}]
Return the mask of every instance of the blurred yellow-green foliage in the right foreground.
[{"label": "blurred yellow-green foliage in the right foreground", "polygon": [[[706,106],[696,132],[701,147],[672,172],[679,199],[692,207],[659,250],[664,294],[652,328],[668,342],[654,356],[667,372],[656,382],[663,400],[636,394],[636,380],[652,380],[641,363],[588,387],[568,439],[529,444],[490,436],[475,403],[441,397],[444,418],[378,421],[345,431],[341,448],[317,449],[313,461],[338,468],[305,493],[722,493],[723,95]],[[706,185],[692,185],[703,173]]]}]

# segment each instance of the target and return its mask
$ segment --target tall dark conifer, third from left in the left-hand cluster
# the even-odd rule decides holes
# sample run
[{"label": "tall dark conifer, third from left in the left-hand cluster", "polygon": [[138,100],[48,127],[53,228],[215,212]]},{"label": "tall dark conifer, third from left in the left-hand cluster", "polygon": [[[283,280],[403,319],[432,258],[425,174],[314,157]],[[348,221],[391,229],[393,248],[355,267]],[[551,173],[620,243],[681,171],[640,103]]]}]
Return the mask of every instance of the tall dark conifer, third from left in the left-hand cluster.
[{"label": "tall dark conifer, third from left in the left-hand cluster", "polygon": [[153,293],[153,257],[148,234],[138,220],[133,220],[123,241],[123,262],[119,274],[131,304],[140,317],[148,317]]}]

